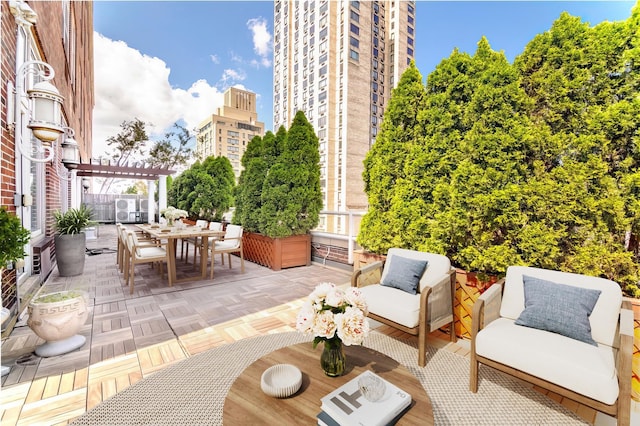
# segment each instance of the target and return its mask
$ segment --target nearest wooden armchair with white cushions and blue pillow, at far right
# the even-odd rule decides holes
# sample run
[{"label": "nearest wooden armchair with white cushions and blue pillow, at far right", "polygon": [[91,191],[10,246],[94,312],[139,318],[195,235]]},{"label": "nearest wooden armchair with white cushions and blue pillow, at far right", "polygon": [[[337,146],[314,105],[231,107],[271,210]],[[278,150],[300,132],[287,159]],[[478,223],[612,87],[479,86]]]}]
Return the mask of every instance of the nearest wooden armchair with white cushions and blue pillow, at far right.
[{"label": "nearest wooden armchair with white cushions and blue pillow, at far right", "polygon": [[633,313],[613,281],[510,266],[473,307],[469,387],[479,364],[630,422]]}]

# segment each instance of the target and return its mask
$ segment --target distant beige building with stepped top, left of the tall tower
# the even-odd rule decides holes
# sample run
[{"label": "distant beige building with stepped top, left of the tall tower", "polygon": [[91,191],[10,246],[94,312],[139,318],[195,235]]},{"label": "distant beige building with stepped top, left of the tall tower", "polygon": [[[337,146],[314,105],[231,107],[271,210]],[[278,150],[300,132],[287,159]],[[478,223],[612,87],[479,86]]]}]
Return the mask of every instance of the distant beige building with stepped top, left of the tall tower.
[{"label": "distant beige building with stepped top, left of the tall tower", "polygon": [[201,161],[211,155],[227,157],[237,180],[247,145],[254,136],[263,135],[264,123],[258,121],[256,113],[256,94],[231,87],[224,93],[224,105],[198,126],[196,154]]}]

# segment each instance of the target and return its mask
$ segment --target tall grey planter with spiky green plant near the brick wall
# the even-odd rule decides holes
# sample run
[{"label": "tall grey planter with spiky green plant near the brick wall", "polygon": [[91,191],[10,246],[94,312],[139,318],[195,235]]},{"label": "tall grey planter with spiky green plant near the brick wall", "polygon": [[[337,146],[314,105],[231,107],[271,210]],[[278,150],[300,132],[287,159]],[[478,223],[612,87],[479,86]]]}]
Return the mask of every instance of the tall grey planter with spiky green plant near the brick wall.
[{"label": "tall grey planter with spiky green plant near the brick wall", "polygon": [[84,270],[86,235],[83,231],[95,224],[91,220],[92,214],[85,205],[53,214],[56,262],[61,277],[80,275]]}]

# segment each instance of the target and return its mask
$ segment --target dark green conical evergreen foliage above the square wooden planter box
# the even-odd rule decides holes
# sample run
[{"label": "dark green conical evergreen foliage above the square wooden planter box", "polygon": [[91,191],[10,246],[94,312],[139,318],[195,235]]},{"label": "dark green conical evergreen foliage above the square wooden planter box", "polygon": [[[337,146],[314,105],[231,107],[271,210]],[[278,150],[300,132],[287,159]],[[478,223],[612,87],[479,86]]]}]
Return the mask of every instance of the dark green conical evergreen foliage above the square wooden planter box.
[{"label": "dark green conical evergreen foliage above the square wooden planter box", "polygon": [[318,137],[302,111],[288,131],[254,138],[242,157],[234,223],[272,238],[308,233],[322,209],[319,163]]}]

